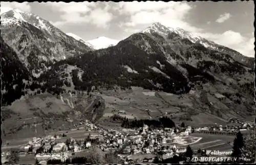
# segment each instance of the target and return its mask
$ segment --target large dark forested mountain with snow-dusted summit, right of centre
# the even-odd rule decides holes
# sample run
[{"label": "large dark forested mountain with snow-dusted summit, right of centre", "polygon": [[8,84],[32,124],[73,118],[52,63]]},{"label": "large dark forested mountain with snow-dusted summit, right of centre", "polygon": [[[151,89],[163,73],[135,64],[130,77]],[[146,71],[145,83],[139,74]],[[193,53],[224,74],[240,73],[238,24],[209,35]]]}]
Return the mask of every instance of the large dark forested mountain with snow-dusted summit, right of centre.
[{"label": "large dark forested mountain with snow-dusted summit, right of centre", "polygon": [[[76,90],[138,86],[189,98],[193,105],[180,105],[185,113],[207,112],[224,118],[252,114],[252,68],[234,60],[232,54],[205,48],[167,27],[154,24],[149,29],[115,46],[56,62],[40,82],[46,82],[48,91],[58,94],[66,85],[56,73],[75,66],[71,75]],[[51,84],[57,85],[49,88]]]}]

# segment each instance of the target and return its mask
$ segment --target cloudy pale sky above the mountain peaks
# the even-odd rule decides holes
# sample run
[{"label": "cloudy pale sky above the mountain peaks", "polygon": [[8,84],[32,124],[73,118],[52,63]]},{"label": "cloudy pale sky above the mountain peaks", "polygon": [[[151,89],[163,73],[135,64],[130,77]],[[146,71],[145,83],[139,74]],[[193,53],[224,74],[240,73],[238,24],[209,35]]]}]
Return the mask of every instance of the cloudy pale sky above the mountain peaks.
[{"label": "cloudy pale sky above the mountain peaks", "polygon": [[254,2],[1,2],[1,14],[17,8],[50,21],[85,41],[100,36],[122,40],[154,22],[197,33],[254,57]]}]

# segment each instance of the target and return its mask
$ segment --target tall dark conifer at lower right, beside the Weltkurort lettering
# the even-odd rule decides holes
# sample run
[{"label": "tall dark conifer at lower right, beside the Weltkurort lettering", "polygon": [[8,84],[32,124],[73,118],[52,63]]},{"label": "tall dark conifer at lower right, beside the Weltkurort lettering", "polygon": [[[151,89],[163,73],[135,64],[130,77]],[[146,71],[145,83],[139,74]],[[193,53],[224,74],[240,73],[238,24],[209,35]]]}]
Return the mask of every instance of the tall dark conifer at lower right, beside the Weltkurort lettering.
[{"label": "tall dark conifer at lower right, beside the Weltkurort lettering", "polygon": [[232,151],[231,156],[233,156],[233,157],[241,157],[243,147],[244,147],[243,134],[239,131],[237,133],[237,137],[234,138],[233,151]]}]

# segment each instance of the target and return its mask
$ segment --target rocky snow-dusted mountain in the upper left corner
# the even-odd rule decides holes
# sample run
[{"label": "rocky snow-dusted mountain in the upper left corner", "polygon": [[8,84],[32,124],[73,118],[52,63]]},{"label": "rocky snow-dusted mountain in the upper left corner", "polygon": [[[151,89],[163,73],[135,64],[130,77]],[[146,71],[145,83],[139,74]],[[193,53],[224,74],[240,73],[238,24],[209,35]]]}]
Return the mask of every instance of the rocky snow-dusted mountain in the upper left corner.
[{"label": "rocky snow-dusted mountain in the upper left corner", "polygon": [[1,36],[34,77],[56,61],[92,50],[49,21],[18,9],[1,14]]}]

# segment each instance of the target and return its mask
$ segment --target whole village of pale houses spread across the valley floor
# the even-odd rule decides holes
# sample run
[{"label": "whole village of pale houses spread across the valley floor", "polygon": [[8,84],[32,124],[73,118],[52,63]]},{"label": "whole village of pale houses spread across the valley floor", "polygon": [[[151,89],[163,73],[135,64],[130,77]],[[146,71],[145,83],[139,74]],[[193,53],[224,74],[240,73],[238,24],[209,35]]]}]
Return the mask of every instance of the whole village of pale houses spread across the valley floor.
[{"label": "whole village of pale houses spread across the valley floor", "polygon": [[[237,120],[230,119],[238,123]],[[65,142],[62,138],[67,135],[48,135],[45,137],[34,137],[24,146],[24,151],[19,155],[34,154],[41,164],[46,164],[49,159],[66,159],[75,156],[76,153],[90,149],[92,146],[100,148],[103,152],[118,152],[118,156],[124,163],[153,162],[157,156],[160,160],[172,158],[174,155],[186,152],[186,146],[200,141],[200,137],[190,136],[194,132],[208,133],[236,133],[251,129],[253,126],[239,122],[239,127],[229,127],[217,124],[214,127],[195,128],[181,126],[180,128],[158,128],[151,129],[147,125],[137,129],[113,129],[100,128],[88,120],[83,127],[78,129],[89,132],[88,136],[80,139],[69,137]],[[73,129],[75,130],[75,129]],[[92,132],[92,133],[90,133]],[[95,133],[97,132],[97,133]],[[10,154],[2,152],[2,157]],[[143,159],[134,161],[134,155],[144,155]]]}]

